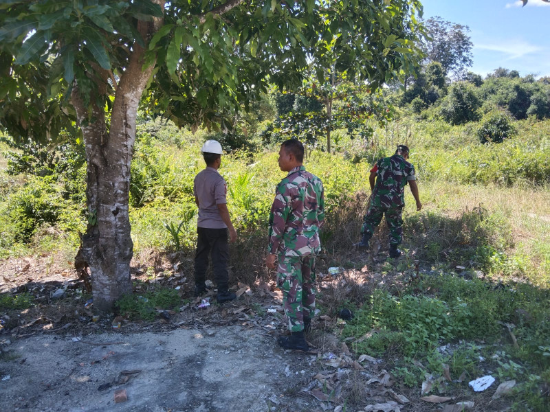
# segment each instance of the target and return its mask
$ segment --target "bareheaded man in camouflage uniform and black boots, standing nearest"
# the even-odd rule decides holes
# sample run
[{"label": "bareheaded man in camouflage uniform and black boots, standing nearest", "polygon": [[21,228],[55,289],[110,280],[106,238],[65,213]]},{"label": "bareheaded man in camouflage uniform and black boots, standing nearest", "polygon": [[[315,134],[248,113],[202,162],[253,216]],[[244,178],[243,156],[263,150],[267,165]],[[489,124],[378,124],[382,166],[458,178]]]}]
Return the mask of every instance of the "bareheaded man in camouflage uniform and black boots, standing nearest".
[{"label": "bareheaded man in camouflage uniform and black boots, standing nearest", "polygon": [[[315,257],[321,250],[319,229],[325,218],[322,182],[303,166],[304,146],[289,139],[279,150],[279,167],[288,172],[275,190],[270,213],[267,267],[277,267],[277,286],[290,336],[279,336],[285,349],[309,350],[304,332],[315,309]],[[276,264],[278,260],[278,264]]]}]

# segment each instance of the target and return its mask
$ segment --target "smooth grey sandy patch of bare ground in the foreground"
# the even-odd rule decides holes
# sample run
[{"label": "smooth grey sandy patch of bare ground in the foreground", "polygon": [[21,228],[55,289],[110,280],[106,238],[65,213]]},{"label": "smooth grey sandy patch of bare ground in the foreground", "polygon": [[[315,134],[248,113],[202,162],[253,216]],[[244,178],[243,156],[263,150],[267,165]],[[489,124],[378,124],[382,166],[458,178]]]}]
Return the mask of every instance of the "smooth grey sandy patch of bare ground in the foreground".
[{"label": "smooth grey sandy patch of bare ground in the foreground", "polygon": [[[284,352],[274,337],[238,325],[76,339],[32,336],[6,346],[0,378],[10,378],[0,381],[0,410],[318,409],[316,400],[300,394],[316,356]],[[291,388],[292,396],[285,396]],[[127,400],[115,403],[120,389]]]}]

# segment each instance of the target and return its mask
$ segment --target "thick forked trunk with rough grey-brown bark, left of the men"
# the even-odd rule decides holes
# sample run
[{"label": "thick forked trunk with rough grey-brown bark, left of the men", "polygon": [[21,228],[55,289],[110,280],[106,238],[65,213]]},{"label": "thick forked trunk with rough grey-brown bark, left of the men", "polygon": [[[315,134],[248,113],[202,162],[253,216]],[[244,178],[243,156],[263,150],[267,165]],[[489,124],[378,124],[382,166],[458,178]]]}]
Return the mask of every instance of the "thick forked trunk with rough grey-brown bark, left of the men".
[{"label": "thick forked trunk with rough grey-brown bark, left of the men", "polygon": [[[155,3],[164,5],[162,1]],[[137,29],[146,42],[157,32],[162,19],[139,22]],[[111,310],[122,295],[132,292],[130,262],[130,168],[135,143],[137,108],[153,65],[143,66],[144,49],[134,43],[129,62],[115,91],[111,124],[107,130],[104,108],[92,106],[89,116],[78,93],[72,93],[78,122],[83,131],[87,159],[87,208],[89,222],[83,236],[83,256],[91,271],[94,306]],[[109,72],[97,68],[98,93],[107,90]],[[94,100],[91,100],[94,101]]]}]

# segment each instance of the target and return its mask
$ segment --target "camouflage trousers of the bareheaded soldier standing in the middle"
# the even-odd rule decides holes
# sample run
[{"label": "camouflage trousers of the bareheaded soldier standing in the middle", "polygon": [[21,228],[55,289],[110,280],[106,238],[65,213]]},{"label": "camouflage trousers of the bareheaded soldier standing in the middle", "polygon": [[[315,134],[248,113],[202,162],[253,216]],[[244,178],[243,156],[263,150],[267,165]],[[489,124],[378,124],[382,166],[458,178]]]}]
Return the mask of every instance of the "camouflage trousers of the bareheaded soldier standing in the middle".
[{"label": "camouflage trousers of the bareheaded soldier standing in the middle", "polygon": [[291,332],[304,330],[304,317],[315,310],[315,256],[279,255],[277,286],[283,291],[283,309]]}]

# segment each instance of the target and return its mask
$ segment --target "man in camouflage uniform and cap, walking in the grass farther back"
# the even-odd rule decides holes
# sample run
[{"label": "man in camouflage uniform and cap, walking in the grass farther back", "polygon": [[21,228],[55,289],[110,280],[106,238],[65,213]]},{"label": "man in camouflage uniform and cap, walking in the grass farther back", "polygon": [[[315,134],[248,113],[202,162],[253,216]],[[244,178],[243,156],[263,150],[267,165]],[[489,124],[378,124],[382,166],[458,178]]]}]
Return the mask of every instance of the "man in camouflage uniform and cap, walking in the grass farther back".
[{"label": "man in camouflage uniform and cap, walking in the grass farther back", "polygon": [[[415,166],[408,163],[408,147],[397,146],[395,155],[384,157],[376,162],[371,169],[369,183],[371,184],[371,204],[363,218],[361,242],[358,247],[369,247],[369,240],[374,230],[380,224],[382,215],[386,215],[386,222],[390,229],[390,257],[398,258],[401,251],[397,249],[401,244],[403,219],[401,211],[405,205],[404,188],[408,183],[412,196],[417,201],[417,210],[422,208],[418,195],[418,187],[415,176]],[[375,184],[376,181],[376,184]]]}]

